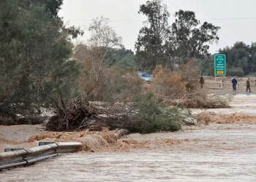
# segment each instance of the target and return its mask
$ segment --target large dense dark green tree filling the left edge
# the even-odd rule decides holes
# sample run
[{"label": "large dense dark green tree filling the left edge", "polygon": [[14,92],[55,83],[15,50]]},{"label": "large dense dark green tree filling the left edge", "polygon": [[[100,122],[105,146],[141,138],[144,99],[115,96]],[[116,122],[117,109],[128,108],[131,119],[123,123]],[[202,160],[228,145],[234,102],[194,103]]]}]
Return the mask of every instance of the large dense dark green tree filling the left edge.
[{"label": "large dense dark green tree filling the left edge", "polygon": [[69,59],[70,39],[80,30],[66,28],[45,4],[27,3],[0,1],[1,118],[29,116],[51,103],[64,106],[74,93],[78,66]]}]

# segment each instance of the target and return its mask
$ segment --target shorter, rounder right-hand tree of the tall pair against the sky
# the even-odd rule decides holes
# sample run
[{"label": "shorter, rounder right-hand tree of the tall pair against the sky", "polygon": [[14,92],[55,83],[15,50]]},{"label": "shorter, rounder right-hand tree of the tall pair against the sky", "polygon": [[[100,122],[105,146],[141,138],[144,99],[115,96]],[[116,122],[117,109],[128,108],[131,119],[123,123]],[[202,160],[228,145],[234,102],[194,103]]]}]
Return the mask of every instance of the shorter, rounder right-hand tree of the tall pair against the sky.
[{"label": "shorter, rounder right-hand tree of the tall pair against the sky", "polygon": [[170,37],[173,45],[173,56],[179,65],[187,63],[189,58],[207,58],[209,44],[219,40],[218,26],[196,19],[195,12],[179,10],[175,13]]}]

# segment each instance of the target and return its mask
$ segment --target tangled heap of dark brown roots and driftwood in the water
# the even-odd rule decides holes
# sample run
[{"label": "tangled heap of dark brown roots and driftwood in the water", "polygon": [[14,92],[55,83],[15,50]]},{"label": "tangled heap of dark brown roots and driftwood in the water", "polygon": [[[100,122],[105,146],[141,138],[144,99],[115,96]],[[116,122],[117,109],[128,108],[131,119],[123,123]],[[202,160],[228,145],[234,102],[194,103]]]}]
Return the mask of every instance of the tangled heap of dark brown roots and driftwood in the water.
[{"label": "tangled heap of dark brown roots and driftwood in the water", "polygon": [[82,100],[73,100],[63,109],[58,109],[46,124],[50,131],[102,130],[112,129],[129,122],[132,111],[111,109],[108,106],[97,106]]}]

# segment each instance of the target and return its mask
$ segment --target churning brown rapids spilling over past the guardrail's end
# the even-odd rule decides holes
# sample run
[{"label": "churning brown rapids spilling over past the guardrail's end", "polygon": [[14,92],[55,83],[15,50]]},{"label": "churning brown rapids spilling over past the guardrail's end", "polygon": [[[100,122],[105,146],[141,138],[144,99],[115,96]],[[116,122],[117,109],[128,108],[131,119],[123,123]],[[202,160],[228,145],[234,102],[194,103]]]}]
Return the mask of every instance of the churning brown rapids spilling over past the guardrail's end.
[{"label": "churning brown rapids spilling over past the guardrail's end", "polygon": [[181,141],[170,138],[160,138],[155,140],[137,141],[134,138],[123,138],[114,131],[103,130],[102,132],[46,132],[33,135],[29,142],[51,139],[56,142],[78,141],[83,143],[80,148],[82,152],[88,151],[132,151],[135,149],[159,149],[159,147],[173,146]]}]

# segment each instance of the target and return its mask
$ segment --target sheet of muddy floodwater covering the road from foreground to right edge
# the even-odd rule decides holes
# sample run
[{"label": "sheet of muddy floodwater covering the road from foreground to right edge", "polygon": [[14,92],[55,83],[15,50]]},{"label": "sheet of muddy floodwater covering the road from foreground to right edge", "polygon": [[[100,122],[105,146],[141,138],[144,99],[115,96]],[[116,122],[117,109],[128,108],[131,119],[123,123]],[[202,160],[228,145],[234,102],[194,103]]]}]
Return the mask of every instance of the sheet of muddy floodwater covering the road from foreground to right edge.
[{"label": "sheet of muddy floodwater covering the road from foreground to right edge", "polygon": [[0,181],[256,181],[255,103],[235,95],[232,108],[209,110],[230,114],[216,117],[222,124],[128,135],[145,147],[68,154],[1,171]]}]

